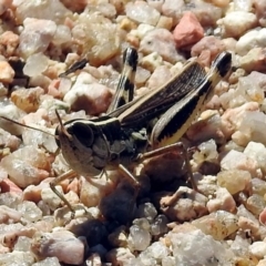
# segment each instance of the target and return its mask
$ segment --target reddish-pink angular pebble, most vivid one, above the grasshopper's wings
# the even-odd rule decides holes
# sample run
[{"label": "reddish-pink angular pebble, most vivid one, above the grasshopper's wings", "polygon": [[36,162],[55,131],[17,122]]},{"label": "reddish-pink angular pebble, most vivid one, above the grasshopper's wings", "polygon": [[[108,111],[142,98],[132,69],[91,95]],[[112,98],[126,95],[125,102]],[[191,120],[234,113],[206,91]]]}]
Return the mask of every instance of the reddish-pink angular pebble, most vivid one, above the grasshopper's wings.
[{"label": "reddish-pink angular pebble, most vivid one, above the grasshopper's wings", "polygon": [[193,12],[186,12],[175,27],[174,40],[177,48],[194,44],[204,35],[204,30]]}]

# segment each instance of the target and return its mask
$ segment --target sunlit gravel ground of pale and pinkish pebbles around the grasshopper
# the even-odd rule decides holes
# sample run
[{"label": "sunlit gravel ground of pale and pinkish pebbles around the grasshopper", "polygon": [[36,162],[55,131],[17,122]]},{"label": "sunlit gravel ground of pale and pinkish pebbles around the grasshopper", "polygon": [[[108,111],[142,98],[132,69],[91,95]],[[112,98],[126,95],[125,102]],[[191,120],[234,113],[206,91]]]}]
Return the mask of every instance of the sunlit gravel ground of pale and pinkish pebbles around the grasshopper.
[{"label": "sunlit gravel ground of pale and pinkish pebbles around the grasshopper", "polygon": [[[266,265],[265,0],[2,0],[0,20],[0,116],[39,130],[0,119],[0,265]],[[129,165],[140,191],[114,170],[73,173],[57,185],[71,217],[49,185],[71,170],[55,110],[104,115],[129,47],[135,98],[191,58],[208,72],[232,54],[182,137],[197,191],[184,155],[167,153]]]}]

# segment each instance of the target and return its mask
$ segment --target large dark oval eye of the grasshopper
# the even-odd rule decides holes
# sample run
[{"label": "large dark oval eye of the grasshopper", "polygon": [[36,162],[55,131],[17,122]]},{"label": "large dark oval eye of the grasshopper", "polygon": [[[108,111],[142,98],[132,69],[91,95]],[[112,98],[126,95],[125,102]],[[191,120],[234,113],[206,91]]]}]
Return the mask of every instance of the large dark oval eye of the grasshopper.
[{"label": "large dark oval eye of the grasshopper", "polygon": [[88,124],[75,122],[68,132],[84,146],[90,147],[94,141],[93,131]]}]

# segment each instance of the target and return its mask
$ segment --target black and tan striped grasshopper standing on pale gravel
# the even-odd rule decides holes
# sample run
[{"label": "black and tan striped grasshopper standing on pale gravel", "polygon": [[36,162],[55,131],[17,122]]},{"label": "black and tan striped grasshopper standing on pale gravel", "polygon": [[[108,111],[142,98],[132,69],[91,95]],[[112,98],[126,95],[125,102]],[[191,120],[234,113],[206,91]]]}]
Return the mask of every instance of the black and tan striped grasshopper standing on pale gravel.
[{"label": "black and tan striped grasshopper standing on pale gravel", "polygon": [[[136,61],[136,51],[129,48],[124,53],[125,68],[106,115],[65,123],[58,115],[60,124],[55,131],[55,140],[71,170],[57,177],[50,186],[72,214],[73,207],[58,192],[57,184],[76,174],[96,176],[104,170],[116,168],[137,188],[139,182],[127,171],[127,166],[132,162],[141,163],[153,156],[180,151],[182,143],[177,141],[212,98],[215,85],[232,68],[232,54],[228,52],[218,54],[207,74],[195,60],[190,61],[166,84],[133,100],[132,83]],[[141,137],[152,149],[145,152],[134,133],[146,129],[151,120],[157,116],[161,117],[153,126],[151,135]],[[187,156],[185,163],[190,167]],[[197,190],[192,171],[188,172],[192,187]]]}]

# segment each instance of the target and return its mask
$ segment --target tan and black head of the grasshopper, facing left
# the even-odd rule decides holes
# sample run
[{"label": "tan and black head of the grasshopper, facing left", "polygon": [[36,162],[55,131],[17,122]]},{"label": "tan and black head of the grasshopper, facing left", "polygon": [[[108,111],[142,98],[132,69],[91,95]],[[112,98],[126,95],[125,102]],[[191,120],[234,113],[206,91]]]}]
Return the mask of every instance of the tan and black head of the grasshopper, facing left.
[{"label": "tan and black head of the grasshopper, facing left", "polygon": [[106,165],[106,141],[88,120],[59,119],[55,140],[70,167],[81,175],[99,175]]}]

